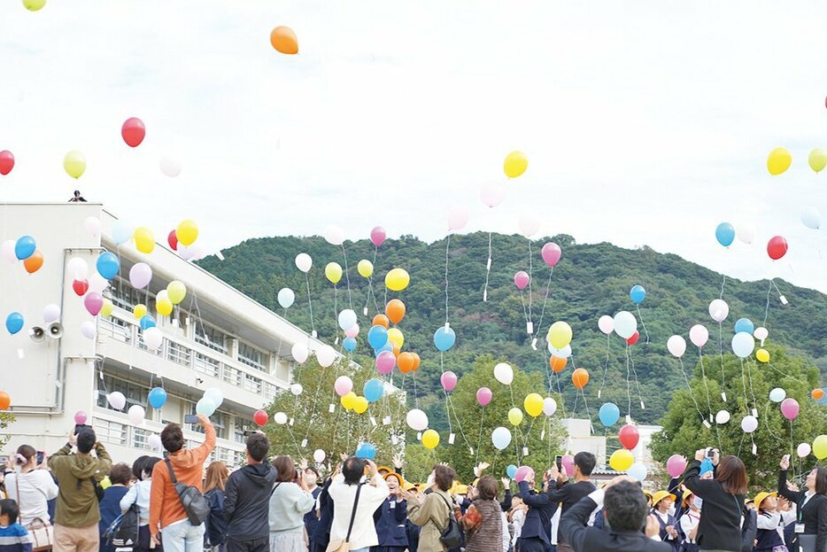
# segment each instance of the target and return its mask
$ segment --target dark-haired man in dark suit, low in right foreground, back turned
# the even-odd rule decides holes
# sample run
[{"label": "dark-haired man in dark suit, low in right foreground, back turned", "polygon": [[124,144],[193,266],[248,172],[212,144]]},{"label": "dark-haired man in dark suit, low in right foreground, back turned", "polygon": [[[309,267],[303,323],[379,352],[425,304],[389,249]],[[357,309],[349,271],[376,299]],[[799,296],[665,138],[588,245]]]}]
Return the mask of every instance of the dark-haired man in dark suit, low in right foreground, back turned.
[{"label": "dark-haired man in dark suit, low in right foreground, back turned", "polygon": [[[591,512],[599,508],[608,531],[588,526]],[[651,538],[657,535],[658,525],[647,517],[648,511],[640,485],[620,476],[568,508],[560,517],[560,536],[575,552],[670,552],[668,544]],[[644,526],[645,534],[641,532]]]}]

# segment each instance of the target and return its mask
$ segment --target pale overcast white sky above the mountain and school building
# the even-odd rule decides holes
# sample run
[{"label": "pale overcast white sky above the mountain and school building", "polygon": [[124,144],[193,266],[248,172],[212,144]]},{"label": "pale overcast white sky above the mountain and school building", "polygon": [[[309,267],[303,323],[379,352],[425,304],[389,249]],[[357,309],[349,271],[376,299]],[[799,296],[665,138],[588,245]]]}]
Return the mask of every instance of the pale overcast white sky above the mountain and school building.
[{"label": "pale overcast white sky above the mountain and school building", "polygon": [[[0,201],[79,189],[159,241],[193,219],[211,253],[250,237],[566,233],[648,245],[827,292],[827,19],[762,0],[48,0],[0,4]],[[269,43],[298,35],[299,54]],[[135,150],[128,117],[147,127]],[[768,153],[792,152],[770,176]],[[80,150],[78,182],[62,159]],[[507,152],[529,169],[506,182]],[[174,179],[158,160],[182,163]],[[489,209],[479,194],[503,183]],[[715,226],[753,226],[730,249]],[[790,251],[772,262],[769,237]],[[5,238],[5,237],[4,237]],[[565,252],[564,258],[565,258]],[[825,257],[823,257],[823,255]],[[641,275],[645,281],[645,275]]]}]

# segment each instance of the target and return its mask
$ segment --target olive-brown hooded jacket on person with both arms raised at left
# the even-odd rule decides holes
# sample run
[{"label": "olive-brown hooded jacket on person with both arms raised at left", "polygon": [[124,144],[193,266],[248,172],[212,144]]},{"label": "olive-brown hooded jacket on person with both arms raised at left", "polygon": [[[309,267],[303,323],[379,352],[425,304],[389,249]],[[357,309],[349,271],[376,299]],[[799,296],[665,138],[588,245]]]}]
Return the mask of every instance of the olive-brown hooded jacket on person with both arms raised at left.
[{"label": "olive-brown hooded jacket on person with both arms raised at left", "polygon": [[58,502],[55,523],[65,527],[89,527],[100,521],[95,483],[100,483],[112,468],[112,459],[100,443],[95,456],[70,455],[64,446],[49,457],[49,469],[58,479]]}]

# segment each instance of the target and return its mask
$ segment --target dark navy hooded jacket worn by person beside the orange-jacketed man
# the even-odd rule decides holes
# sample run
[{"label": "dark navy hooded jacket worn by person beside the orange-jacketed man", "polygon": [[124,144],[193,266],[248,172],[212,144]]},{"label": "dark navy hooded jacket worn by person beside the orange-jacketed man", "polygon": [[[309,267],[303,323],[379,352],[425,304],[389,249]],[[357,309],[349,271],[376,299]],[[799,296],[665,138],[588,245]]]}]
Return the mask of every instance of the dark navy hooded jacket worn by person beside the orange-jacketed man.
[{"label": "dark navy hooded jacket worn by person beside the orange-jacketed man", "polygon": [[227,520],[229,539],[269,538],[267,516],[275,476],[276,470],[267,460],[247,464],[230,474],[224,486],[224,519]]}]

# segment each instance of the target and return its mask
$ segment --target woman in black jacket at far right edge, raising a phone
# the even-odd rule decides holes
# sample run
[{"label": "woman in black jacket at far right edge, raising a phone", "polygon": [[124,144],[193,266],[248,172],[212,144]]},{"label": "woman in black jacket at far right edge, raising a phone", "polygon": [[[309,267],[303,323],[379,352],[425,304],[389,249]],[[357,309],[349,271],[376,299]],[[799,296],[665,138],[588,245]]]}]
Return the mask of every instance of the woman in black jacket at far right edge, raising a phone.
[{"label": "woman in black jacket at far right edge, raising a phone", "polygon": [[[790,455],[781,459],[778,471],[778,494],[796,507],[795,530],[792,544],[798,548],[809,545],[821,552],[827,545],[827,468],[813,468],[804,481],[803,491],[787,488],[787,470]],[[815,541],[815,548],[812,548]]]}]

